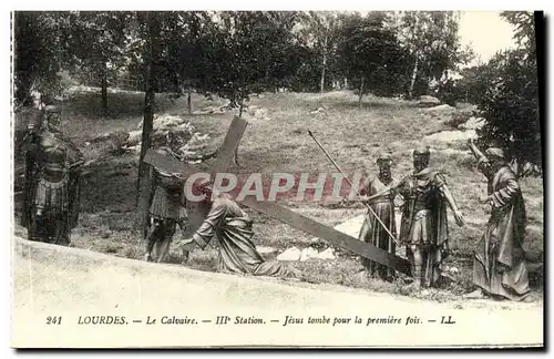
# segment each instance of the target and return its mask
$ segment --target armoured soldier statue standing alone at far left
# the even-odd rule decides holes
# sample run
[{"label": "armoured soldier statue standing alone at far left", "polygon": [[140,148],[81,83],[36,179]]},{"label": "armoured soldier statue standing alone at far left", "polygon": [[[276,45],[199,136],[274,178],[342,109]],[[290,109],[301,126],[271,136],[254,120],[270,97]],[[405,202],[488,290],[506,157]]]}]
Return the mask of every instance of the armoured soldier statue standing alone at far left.
[{"label": "armoured soldier statue standing alone at far left", "polygon": [[30,240],[70,245],[79,219],[83,155],[59,130],[60,110],[49,105],[25,137],[22,225]]}]

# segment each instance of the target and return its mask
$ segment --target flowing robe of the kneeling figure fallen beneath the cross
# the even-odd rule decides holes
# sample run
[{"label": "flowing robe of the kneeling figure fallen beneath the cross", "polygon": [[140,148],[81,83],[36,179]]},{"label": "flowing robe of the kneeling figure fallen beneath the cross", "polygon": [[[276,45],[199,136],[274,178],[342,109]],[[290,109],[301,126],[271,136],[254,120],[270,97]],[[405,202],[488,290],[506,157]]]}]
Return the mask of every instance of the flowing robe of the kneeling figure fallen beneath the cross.
[{"label": "flowing robe of the kneeling figure fallen beneath the cross", "polygon": [[218,270],[255,276],[297,276],[299,271],[277,260],[265,260],[252,242],[253,222],[232,199],[216,198],[193,239],[205,248],[214,236],[219,242]]}]

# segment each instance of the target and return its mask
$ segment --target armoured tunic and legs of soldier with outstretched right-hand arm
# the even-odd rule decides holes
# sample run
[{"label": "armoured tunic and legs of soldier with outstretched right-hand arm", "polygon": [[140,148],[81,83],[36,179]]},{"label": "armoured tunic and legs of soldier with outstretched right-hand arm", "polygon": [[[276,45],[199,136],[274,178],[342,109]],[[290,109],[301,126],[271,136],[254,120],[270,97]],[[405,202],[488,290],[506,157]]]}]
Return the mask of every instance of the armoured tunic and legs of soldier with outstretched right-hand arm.
[{"label": "armoured tunic and legs of soldier with outstretched right-hand arm", "polygon": [[439,279],[435,269],[449,250],[447,199],[441,191],[444,185],[444,176],[428,167],[406,177],[398,187],[404,201],[399,239],[406,244],[409,258],[412,257],[410,246],[422,249],[424,286],[433,286]]}]

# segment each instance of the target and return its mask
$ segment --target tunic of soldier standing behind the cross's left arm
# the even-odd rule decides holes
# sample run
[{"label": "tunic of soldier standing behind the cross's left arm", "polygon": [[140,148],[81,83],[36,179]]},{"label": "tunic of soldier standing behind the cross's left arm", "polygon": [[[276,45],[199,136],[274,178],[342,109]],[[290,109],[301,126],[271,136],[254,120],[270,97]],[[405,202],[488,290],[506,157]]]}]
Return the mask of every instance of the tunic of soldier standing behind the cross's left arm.
[{"label": "tunic of soldier standing behind the cross's left arm", "polygon": [[[161,147],[156,152],[177,158],[168,147]],[[151,178],[153,184],[148,206],[148,225],[152,230],[148,238],[150,249],[156,240],[172,239],[177,224],[182,230],[187,226],[184,180],[156,167],[151,168]]]}]

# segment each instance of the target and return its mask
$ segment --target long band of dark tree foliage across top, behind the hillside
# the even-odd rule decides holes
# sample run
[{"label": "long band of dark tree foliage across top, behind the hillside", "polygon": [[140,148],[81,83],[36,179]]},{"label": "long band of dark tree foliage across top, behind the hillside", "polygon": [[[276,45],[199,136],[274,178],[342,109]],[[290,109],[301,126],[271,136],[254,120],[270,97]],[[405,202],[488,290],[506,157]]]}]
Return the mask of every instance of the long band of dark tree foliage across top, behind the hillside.
[{"label": "long band of dark tree foliage across top, behind the hillside", "polygon": [[[32,13],[33,21],[21,28],[16,23],[17,38],[29,44],[18,50],[31,62],[22,62],[28,70],[19,73],[33,72],[27,78],[55,83],[55,73],[63,68],[104,88],[104,93],[121,75],[145,79],[150,50],[144,16]],[[227,98],[233,105],[252,92],[325,91],[346,85],[347,80],[358,86],[361,78],[363,92],[423,93],[431,79],[455,70],[469,54],[460,48],[454,12],[163,11],[158,16],[156,92],[181,95],[192,85]],[[21,91],[29,88],[22,85]]]}]

